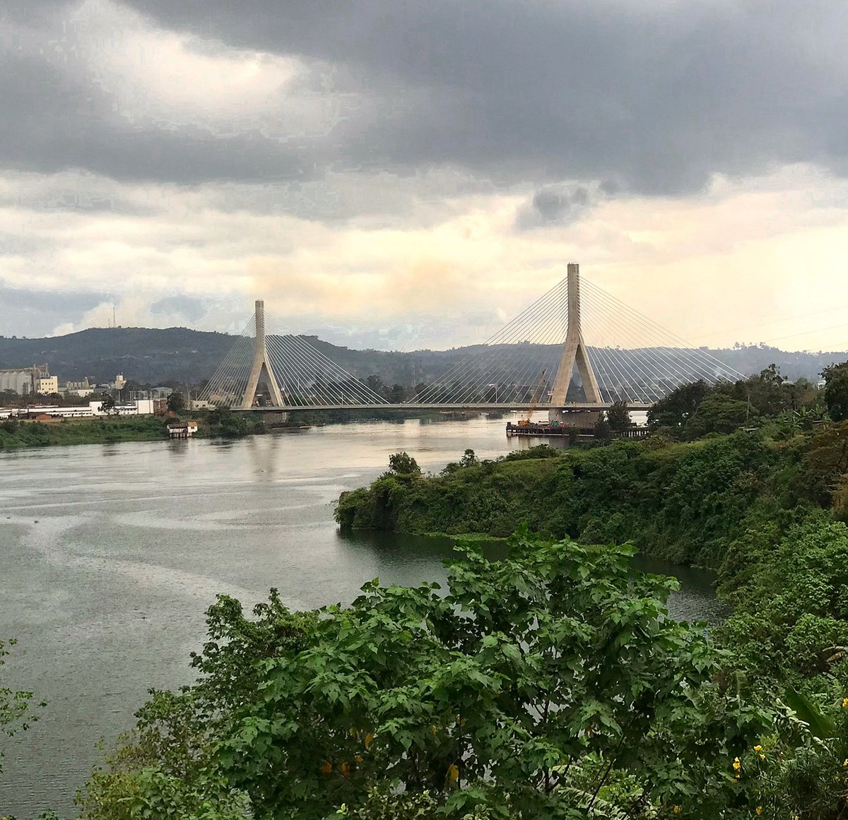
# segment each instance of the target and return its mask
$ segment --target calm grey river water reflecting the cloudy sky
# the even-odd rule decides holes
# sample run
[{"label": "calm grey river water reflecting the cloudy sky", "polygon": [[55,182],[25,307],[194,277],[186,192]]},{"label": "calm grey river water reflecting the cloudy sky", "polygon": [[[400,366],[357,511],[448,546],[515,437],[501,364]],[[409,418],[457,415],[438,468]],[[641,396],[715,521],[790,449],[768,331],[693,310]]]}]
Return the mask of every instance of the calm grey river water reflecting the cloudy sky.
[{"label": "calm grey river water reflecting the cloudy sky", "polygon": [[[405,450],[437,471],[466,447],[527,441],[505,420],[345,424],[239,441],[164,441],[0,453],[0,685],[35,690],[44,717],[4,741],[0,816],[71,811],[95,743],[129,728],[149,687],[191,680],[216,593],[246,607],[279,588],[292,608],[351,601],[366,580],[444,579],[448,542],[338,533],[333,501]],[[680,618],[716,618],[710,577],[661,562]]]}]

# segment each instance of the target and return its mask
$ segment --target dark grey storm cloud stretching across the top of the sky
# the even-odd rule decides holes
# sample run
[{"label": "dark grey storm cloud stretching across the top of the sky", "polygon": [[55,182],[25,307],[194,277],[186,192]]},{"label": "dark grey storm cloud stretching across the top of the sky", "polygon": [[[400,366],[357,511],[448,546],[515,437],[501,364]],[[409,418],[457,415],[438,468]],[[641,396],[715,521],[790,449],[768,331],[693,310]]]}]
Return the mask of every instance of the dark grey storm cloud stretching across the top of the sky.
[{"label": "dark grey storm cloud stretching across the top of the sky", "polygon": [[69,95],[58,76],[34,89],[25,129],[13,120],[17,136],[0,137],[13,163],[178,182],[320,175],[330,162],[401,174],[447,163],[497,185],[604,179],[642,193],[693,191],[712,173],[775,163],[846,169],[843,3],[125,4],[166,28],[337,66],[313,79],[341,83],[335,90],[361,104],[328,141],[293,147],[254,133],[133,128],[108,99]]}]

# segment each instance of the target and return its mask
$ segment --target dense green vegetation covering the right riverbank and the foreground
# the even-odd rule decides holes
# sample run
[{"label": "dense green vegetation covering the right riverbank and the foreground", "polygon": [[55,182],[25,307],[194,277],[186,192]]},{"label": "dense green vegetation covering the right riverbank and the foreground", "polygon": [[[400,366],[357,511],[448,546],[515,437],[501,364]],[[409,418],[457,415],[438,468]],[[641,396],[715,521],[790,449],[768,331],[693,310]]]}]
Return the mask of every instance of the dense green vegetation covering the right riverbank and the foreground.
[{"label": "dense green vegetation covering the right riverbank and the foreground", "polygon": [[[846,374],[687,385],[643,441],[396,453],[340,524],[543,535],[461,547],[446,590],[220,596],[198,682],[152,693],[81,817],[848,817]],[[716,568],[727,621],[667,618],[637,548]]]}]

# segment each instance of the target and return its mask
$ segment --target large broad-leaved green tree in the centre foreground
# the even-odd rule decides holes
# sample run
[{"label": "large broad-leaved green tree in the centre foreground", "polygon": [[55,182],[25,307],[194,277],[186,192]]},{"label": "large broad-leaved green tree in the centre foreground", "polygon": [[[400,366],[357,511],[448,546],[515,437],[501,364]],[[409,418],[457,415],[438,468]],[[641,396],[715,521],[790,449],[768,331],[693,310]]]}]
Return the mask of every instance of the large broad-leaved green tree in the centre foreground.
[{"label": "large broad-leaved green tree in the centre foreground", "polygon": [[717,810],[764,716],[710,686],[717,655],[633,552],[520,535],[494,564],[466,547],[447,595],[365,585],[321,610],[309,648],[261,664],[222,772],[269,817],[353,811],[374,789],[446,817],[583,817],[628,777],[628,803]]}]

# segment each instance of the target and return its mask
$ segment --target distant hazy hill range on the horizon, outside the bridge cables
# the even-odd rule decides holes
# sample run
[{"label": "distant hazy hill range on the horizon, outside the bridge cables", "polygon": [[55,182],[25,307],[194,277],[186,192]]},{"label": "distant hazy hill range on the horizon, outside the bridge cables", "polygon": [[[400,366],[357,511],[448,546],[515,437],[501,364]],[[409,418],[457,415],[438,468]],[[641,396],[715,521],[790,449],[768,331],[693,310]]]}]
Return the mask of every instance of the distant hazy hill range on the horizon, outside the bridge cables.
[{"label": "distant hazy hill range on the horizon, outside the bridge cables", "polygon": [[[414,385],[443,373],[471,348],[410,353],[353,350],[304,336],[326,357],[362,379],[379,376],[388,385]],[[232,347],[235,337],[187,328],[92,328],[47,339],[0,336],[0,368],[47,363],[60,381],[84,377],[104,382],[123,373],[128,380],[151,384],[196,385],[209,379]],[[828,364],[848,360],[848,352],[784,352],[776,347],[747,346],[710,350],[740,373],[759,373],[775,363],[784,376],[817,380]]]}]

